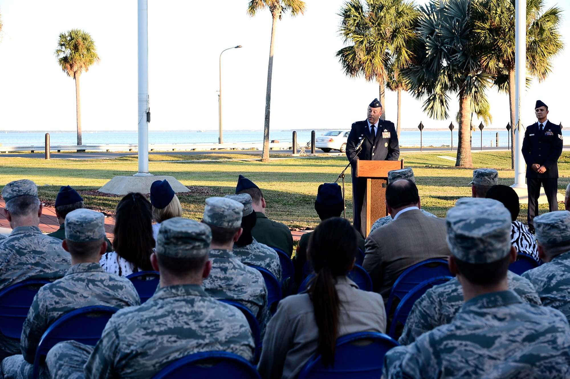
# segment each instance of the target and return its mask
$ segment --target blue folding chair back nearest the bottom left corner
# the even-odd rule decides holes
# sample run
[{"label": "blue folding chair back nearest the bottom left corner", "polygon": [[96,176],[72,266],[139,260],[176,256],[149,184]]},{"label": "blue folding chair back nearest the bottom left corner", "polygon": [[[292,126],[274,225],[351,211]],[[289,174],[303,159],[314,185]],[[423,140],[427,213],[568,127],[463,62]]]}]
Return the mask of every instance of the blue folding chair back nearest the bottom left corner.
[{"label": "blue folding chair back nearest the bottom left corner", "polygon": [[118,309],[113,307],[89,306],[67,312],[55,320],[39,341],[32,379],[38,377],[40,363],[46,359],[47,352],[55,344],[73,340],[84,345],[95,346],[101,339],[105,325],[116,311]]}]

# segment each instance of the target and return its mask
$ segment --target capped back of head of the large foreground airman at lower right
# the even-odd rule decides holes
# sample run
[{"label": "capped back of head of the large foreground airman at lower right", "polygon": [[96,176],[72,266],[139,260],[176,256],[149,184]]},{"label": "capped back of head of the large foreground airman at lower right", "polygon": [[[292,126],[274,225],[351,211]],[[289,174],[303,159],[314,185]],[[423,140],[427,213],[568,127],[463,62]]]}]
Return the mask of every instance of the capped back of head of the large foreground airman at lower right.
[{"label": "capped back of head of the large foreground airman at lower right", "polygon": [[511,213],[494,199],[463,198],[447,212],[447,245],[463,277],[495,285],[507,275]]}]

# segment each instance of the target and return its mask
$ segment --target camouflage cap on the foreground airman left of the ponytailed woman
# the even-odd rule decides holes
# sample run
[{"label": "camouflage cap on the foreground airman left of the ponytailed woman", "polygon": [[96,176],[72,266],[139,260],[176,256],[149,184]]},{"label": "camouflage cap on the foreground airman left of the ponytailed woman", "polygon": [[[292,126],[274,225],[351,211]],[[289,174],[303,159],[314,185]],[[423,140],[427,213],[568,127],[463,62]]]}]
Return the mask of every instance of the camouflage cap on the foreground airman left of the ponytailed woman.
[{"label": "camouflage cap on the foreground airman left of the ponytailed woman", "polygon": [[200,258],[208,253],[211,241],[210,226],[173,217],[160,224],[156,253],[171,258]]}]

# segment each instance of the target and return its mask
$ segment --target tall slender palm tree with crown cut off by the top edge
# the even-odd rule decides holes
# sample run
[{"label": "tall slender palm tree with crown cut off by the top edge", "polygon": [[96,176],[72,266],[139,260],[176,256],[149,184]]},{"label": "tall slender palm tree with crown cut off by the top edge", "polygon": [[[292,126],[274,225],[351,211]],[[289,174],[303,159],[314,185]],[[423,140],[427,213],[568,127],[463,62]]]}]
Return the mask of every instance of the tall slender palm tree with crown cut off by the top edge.
[{"label": "tall slender palm tree with crown cut off by the top edge", "polygon": [[269,110],[271,106],[271,74],[273,71],[273,52],[275,50],[275,31],[277,20],[281,19],[287,11],[291,17],[304,14],[306,5],[301,0],[250,0],[247,6],[247,14],[254,17],[258,11],[268,8],[271,11],[273,23],[271,24],[271,45],[269,47],[269,67],[267,69],[267,92],[265,95],[265,122],[263,125],[263,153],[262,162],[269,162]]}]

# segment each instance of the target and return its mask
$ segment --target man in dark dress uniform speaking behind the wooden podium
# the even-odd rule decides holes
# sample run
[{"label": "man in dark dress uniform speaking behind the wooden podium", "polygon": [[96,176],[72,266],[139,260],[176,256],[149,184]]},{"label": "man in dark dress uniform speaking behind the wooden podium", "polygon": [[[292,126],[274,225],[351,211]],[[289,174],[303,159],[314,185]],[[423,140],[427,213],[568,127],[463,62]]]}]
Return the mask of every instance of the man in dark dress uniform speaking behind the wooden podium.
[{"label": "man in dark dress uniform speaking behind the wooden podium", "polygon": [[356,161],[362,160],[398,160],[400,145],[398,134],[392,121],[380,120],[382,105],[375,98],[368,105],[368,118],[352,124],[348,134],[347,158],[352,160],[352,215],[355,229],[363,236],[361,220],[362,208],[366,191],[366,179],[356,178]]}]

